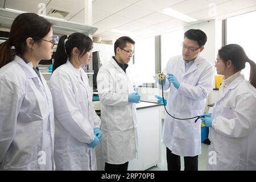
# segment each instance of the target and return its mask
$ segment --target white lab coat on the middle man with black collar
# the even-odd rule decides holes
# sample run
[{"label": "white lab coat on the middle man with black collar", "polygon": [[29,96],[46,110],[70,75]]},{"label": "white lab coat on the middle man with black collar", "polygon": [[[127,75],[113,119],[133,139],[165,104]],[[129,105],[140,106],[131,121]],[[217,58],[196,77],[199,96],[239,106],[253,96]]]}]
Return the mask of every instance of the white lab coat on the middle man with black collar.
[{"label": "white lab coat on the middle man with black collar", "polygon": [[136,105],[128,102],[133,92],[129,68],[125,73],[112,58],[98,71],[97,88],[103,158],[109,164],[123,164],[136,158],[138,147]]}]

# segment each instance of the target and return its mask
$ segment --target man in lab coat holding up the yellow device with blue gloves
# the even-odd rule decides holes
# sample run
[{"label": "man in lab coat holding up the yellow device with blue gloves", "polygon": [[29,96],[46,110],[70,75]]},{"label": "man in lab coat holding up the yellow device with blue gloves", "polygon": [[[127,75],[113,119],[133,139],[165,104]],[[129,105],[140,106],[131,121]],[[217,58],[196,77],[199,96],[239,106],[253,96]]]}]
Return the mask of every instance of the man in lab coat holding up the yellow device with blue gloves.
[{"label": "man in lab coat holding up the yellow device with blue gloves", "polygon": [[[184,34],[182,55],[171,57],[164,73],[163,89],[170,89],[168,113],[176,118],[191,118],[204,113],[205,100],[213,88],[214,67],[200,56],[207,42],[201,30]],[[162,85],[158,80],[158,87]],[[180,170],[180,156],[184,156],[184,170],[198,169],[201,154],[201,122],[195,119],[179,120],[166,114],[163,143],[167,146],[168,170]]]}]

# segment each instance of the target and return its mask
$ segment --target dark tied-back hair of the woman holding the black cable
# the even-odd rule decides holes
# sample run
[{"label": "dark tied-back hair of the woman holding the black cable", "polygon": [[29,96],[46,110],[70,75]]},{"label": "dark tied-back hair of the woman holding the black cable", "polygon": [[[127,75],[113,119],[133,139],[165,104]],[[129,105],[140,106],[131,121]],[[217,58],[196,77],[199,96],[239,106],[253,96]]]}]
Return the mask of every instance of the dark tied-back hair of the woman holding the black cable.
[{"label": "dark tied-back hair of the woman holding the black cable", "polygon": [[245,51],[241,46],[237,44],[228,44],[218,50],[218,55],[225,62],[225,64],[228,60],[230,60],[234,65],[234,69],[236,72],[244,69],[245,63],[248,62],[251,68],[249,82],[256,88],[256,64],[254,63],[254,61],[250,60],[247,57]]}]

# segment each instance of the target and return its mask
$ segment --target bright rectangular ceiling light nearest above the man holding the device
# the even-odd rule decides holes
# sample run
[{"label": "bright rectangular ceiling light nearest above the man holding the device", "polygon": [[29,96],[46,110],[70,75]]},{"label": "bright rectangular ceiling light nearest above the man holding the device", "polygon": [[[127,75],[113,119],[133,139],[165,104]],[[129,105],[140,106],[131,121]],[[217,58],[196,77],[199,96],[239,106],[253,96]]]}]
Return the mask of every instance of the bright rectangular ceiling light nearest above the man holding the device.
[{"label": "bright rectangular ceiling light nearest above the man holding the device", "polygon": [[196,22],[198,19],[192,18],[190,16],[187,16],[185,14],[180,13],[179,11],[173,10],[170,7],[167,7],[163,10],[158,11],[159,13],[171,16],[172,18],[180,19],[183,22],[191,23]]}]

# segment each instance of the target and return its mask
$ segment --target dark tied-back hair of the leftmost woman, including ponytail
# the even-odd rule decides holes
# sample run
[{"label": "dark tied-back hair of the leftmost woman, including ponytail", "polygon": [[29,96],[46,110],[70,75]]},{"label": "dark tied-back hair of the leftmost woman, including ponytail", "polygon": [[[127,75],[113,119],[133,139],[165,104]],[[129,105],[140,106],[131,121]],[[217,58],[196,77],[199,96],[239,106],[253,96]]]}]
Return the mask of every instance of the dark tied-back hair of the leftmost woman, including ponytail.
[{"label": "dark tied-back hair of the leftmost woman, including ponytail", "polygon": [[[0,68],[10,63],[15,54],[23,55],[26,51],[27,38],[44,38],[51,30],[51,23],[35,13],[22,13],[18,15],[11,25],[9,39],[0,44]],[[42,40],[34,40],[40,42]],[[15,47],[15,54],[11,47]]]}]

